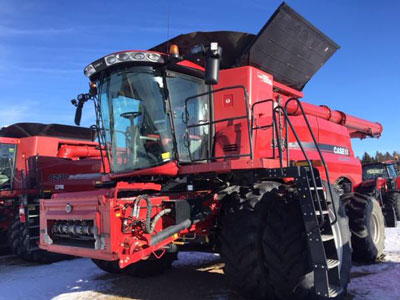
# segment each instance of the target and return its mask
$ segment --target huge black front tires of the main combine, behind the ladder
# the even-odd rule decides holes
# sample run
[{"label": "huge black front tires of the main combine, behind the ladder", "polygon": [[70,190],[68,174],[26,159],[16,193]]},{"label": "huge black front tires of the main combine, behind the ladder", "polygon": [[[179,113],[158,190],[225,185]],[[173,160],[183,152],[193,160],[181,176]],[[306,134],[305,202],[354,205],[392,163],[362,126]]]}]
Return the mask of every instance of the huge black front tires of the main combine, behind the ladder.
[{"label": "huge black front tires of the main combine, behind the ladder", "polygon": [[[234,192],[225,202],[236,210],[225,210],[219,241],[225,275],[239,294],[250,299],[313,299],[313,269],[298,198],[283,197],[279,184],[260,193]],[[255,205],[254,199],[258,199]],[[350,278],[350,232],[344,208],[336,196],[342,251],[341,283],[344,296]],[[232,204],[230,204],[232,205]]]}]

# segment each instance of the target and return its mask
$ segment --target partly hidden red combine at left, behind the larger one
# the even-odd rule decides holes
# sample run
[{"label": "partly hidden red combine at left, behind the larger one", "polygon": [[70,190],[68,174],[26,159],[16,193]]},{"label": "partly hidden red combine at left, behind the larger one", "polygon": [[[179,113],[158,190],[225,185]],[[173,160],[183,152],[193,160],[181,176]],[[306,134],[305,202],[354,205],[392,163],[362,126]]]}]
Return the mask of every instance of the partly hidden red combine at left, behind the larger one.
[{"label": "partly hidden red combine at left, behind the larger one", "polygon": [[0,130],[1,248],[37,262],[60,257],[38,247],[39,199],[95,188],[101,160],[93,138],[89,128],[58,124]]}]

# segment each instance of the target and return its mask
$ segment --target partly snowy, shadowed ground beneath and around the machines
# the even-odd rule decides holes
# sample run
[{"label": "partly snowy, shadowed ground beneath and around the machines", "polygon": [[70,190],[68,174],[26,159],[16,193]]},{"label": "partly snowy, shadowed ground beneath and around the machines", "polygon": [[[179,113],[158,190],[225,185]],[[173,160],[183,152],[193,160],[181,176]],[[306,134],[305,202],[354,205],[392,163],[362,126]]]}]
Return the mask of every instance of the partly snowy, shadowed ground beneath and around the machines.
[{"label": "partly snowy, shadowed ground beneath and around the machines", "polygon": [[[400,224],[399,224],[400,225]],[[386,229],[384,262],[352,269],[348,299],[400,299],[400,226]],[[241,300],[229,291],[218,255],[180,253],[172,270],[155,278],[107,274],[88,259],[51,265],[0,257],[0,300]]]}]

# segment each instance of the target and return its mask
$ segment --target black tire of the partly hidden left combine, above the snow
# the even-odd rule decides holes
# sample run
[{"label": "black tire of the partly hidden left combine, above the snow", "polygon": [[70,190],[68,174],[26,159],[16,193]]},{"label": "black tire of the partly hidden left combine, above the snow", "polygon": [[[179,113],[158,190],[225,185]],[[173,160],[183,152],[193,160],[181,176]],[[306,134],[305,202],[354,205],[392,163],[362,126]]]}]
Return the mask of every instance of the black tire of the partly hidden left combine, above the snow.
[{"label": "black tire of the partly hidden left combine, above the snow", "polygon": [[15,216],[9,231],[12,253],[26,261],[41,264],[49,264],[71,258],[68,255],[52,253],[41,249],[30,251],[27,247],[28,238],[28,229],[24,223],[20,222],[19,216]]}]

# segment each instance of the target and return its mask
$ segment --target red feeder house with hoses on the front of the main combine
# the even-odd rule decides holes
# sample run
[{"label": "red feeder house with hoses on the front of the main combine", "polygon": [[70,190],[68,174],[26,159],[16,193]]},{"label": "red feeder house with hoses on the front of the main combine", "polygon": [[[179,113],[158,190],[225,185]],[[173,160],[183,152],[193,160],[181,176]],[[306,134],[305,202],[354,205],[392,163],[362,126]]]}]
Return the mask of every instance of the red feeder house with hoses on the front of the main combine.
[{"label": "red feeder house with hoses on the front of the main combine", "polygon": [[[125,186],[127,187],[127,186]],[[131,186],[131,190],[135,190]],[[122,232],[123,220],[132,215],[132,203],[136,197],[116,198],[117,189],[97,190],[92,192],[69,193],[54,195],[51,200],[41,200],[40,203],[40,247],[48,251],[64,254],[91,257],[102,260],[120,260],[120,266],[137,262],[144,257],[148,257],[156,250],[177,239],[178,236],[170,237],[162,242],[148,246],[151,236],[140,229],[131,232]],[[168,203],[169,199],[179,199],[193,197],[195,193],[185,195],[171,194],[153,195],[151,203],[153,205],[151,216],[155,217],[161,211],[161,203]],[[209,195],[212,206],[212,195]],[[66,206],[70,205],[72,210],[66,212]],[[139,219],[146,217],[147,205],[143,202],[140,206]],[[86,221],[93,222],[95,226],[94,239],[85,247],[79,245],[63,245],[62,239],[58,239],[52,233],[52,226],[57,220],[63,222]],[[157,222],[155,233],[173,225],[173,220],[163,218]],[[204,229],[204,223],[198,223],[188,230],[180,232],[180,236],[195,233],[207,235],[209,232]],[[49,243],[49,238],[52,240]]]}]

